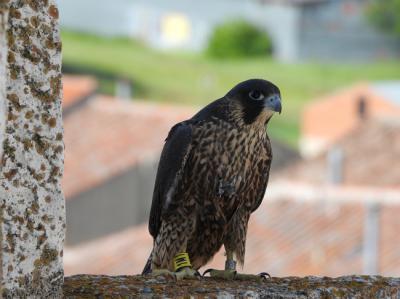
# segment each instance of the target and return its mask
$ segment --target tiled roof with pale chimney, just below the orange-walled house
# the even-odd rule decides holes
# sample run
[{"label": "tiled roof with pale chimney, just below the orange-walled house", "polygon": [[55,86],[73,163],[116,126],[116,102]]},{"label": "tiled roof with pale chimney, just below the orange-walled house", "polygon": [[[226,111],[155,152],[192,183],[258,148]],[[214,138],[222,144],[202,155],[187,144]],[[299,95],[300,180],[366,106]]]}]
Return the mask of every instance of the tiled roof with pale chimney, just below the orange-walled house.
[{"label": "tiled roof with pale chimney, just below the orange-walled house", "polygon": [[[339,109],[340,110],[340,109]],[[278,177],[318,186],[400,188],[400,118],[369,120]]]}]

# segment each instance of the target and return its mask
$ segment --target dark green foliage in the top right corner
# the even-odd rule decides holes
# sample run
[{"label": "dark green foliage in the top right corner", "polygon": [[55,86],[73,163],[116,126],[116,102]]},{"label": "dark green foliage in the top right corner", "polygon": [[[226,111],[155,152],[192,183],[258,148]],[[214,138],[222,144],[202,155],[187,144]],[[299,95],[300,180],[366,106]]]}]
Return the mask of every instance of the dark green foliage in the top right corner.
[{"label": "dark green foliage in the top right corner", "polygon": [[400,0],[374,0],[367,7],[367,16],[378,28],[400,37]]}]

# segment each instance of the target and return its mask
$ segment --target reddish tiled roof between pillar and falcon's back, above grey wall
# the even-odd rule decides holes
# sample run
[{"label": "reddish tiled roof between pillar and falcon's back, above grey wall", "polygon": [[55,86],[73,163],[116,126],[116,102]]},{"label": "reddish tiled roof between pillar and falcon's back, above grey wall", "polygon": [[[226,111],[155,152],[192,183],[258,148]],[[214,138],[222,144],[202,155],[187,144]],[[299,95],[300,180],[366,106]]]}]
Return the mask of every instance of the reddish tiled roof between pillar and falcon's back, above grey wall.
[{"label": "reddish tiled roof between pillar and falcon's back, above grey wall", "polygon": [[64,119],[67,199],[143,159],[158,159],[169,129],[193,108],[96,96]]}]

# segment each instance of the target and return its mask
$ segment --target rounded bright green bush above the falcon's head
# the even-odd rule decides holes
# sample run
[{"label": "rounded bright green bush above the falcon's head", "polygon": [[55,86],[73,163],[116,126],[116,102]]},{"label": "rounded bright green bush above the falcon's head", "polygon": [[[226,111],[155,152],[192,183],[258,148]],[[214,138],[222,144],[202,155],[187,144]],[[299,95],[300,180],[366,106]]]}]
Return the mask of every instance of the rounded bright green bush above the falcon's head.
[{"label": "rounded bright green bush above the falcon's head", "polygon": [[271,40],[253,24],[244,20],[229,21],[215,28],[206,52],[216,58],[268,55]]}]

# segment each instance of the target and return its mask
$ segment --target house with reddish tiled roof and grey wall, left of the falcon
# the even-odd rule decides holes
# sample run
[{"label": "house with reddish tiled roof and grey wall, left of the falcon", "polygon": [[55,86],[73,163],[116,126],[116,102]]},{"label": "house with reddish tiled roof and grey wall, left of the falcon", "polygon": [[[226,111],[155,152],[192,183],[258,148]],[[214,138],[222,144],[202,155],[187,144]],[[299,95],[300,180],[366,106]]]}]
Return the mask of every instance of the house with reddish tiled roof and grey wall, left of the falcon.
[{"label": "house with reddish tiled roof and grey wall, left of the falcon", "polygon": [[[68,245],[118,232],[148,219],[159,155],[169,129],[196,109],[85,94],[91,80],[64,78],[65,171]],[[85,84],[84,84],[85,83]],[[72,84],[72,86],[70,85]],[[273,140],[273,169],[298,153]]]}]

